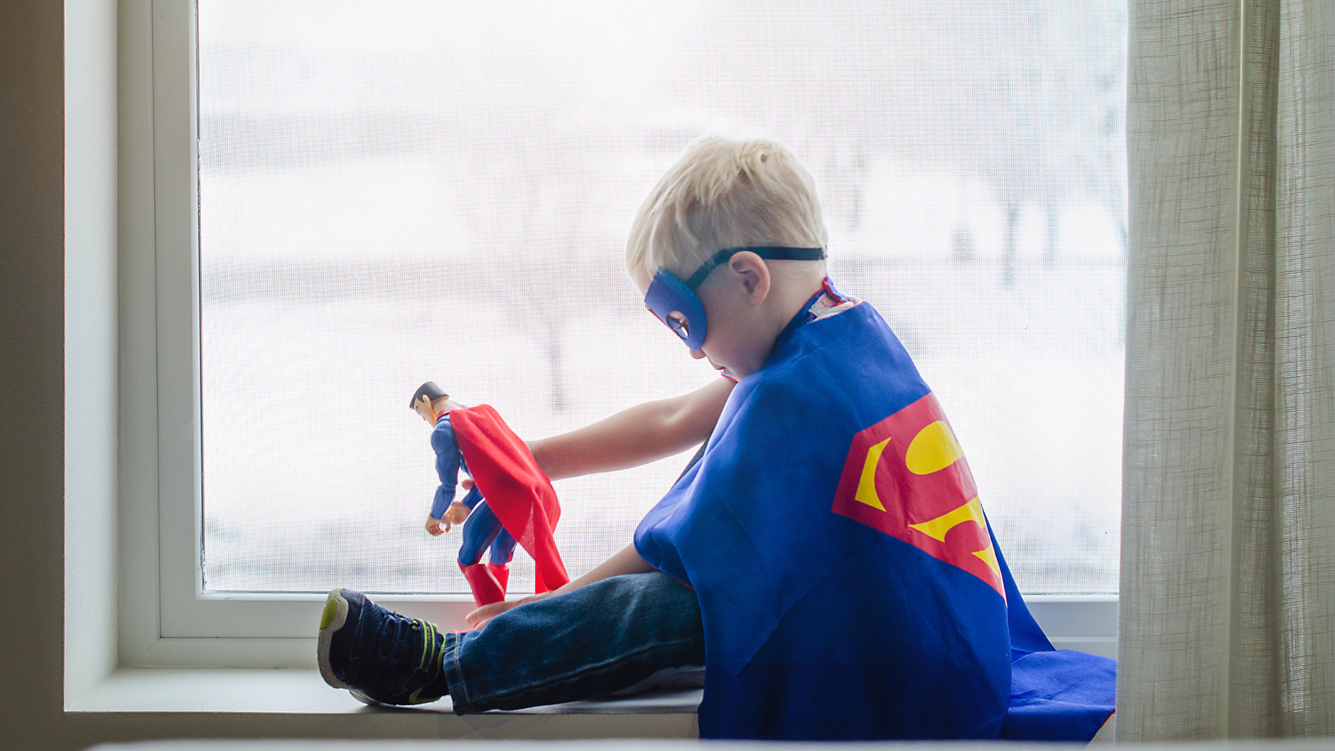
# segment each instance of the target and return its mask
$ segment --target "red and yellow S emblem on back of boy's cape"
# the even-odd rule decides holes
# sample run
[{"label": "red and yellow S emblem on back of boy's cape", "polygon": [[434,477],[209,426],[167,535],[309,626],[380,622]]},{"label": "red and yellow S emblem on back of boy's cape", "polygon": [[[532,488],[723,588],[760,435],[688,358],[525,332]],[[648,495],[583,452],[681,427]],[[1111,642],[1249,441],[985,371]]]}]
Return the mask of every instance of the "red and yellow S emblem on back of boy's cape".
[{"label": "red and yellow S emblem on back of boy's cape", "polygon": [[932,393],[853,436],[830,510],[963,568],[1005,599],[969,462]]}]

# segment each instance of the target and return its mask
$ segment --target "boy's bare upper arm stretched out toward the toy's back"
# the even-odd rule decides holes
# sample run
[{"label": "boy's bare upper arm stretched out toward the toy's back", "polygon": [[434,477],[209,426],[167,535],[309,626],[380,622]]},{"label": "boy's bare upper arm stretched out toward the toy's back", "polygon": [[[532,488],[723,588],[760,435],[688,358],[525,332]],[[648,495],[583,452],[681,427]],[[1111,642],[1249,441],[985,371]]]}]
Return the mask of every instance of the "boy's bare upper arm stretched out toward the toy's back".
[{"label": "boy's bare upper arm stretched out toward the toy's back", "polygon": [[633,406],[586,428],[534,441],[529,450],[551,480],[649,464],[708,440],[736,385],[717,378],[689,394]]}]

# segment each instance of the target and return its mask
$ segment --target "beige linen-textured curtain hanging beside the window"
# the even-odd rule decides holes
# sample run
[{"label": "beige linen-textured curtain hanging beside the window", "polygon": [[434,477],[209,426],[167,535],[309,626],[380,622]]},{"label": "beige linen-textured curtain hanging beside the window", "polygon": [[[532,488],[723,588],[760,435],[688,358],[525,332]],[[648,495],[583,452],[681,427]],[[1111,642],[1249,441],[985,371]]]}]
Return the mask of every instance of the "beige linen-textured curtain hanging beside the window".
[{"label": "beige linen-textured curtain hanging beside the window", "polygon": [[1117,739],[1335,735],[1335,4],[1129,45]]}]

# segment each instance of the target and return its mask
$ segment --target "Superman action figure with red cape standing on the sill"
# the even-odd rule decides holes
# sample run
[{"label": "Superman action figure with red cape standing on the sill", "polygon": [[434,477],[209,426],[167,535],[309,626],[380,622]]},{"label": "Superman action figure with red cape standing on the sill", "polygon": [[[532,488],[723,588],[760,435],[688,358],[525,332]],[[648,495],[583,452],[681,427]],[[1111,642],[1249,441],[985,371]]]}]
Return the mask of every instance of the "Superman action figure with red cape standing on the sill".
[{"label": "Superman action figure with red cape standing on the sill", "polygon": [[[459,569],[477,604],[505,600],[515,543],[534,556],[538,592],[569,581],[551,540],[561,513],[551,482],[495,410],[465,408],[433,381],[418,388],[410,406],[433,426],[431,448],[441,477],[426,531],[439,536],[454,524],[463,525]],[[474,485],[457,501],[461,469]],[[487,548],[489,560],[482,563]]]}]

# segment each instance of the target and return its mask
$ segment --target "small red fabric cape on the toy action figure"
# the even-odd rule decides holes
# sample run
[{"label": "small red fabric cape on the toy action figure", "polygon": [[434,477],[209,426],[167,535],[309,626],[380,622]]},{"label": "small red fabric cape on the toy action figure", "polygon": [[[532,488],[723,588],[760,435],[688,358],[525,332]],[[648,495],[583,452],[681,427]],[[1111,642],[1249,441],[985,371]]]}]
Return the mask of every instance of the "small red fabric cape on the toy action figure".
[{"label": "small red fabric cape on the toy action figure", "polygon": [[570,581],[551,539],[561,504],[529,446],[490,405],[451,410],[450,426],[487,506],[533,556],[534,591],[546,592]]}]

